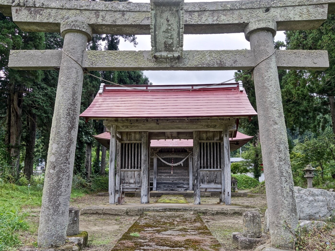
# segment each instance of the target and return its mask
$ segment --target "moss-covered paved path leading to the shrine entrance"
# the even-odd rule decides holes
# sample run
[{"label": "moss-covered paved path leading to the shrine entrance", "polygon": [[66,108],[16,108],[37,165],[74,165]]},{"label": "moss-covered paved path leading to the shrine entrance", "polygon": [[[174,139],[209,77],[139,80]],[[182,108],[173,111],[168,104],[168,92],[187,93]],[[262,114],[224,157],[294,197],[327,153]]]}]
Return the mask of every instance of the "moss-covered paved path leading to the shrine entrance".
[{"label": "moss-covered paved path leading to the shrine entrance", "polygon": [[112,251],[222,251],[199,214],[145,212],[128,229]]}]

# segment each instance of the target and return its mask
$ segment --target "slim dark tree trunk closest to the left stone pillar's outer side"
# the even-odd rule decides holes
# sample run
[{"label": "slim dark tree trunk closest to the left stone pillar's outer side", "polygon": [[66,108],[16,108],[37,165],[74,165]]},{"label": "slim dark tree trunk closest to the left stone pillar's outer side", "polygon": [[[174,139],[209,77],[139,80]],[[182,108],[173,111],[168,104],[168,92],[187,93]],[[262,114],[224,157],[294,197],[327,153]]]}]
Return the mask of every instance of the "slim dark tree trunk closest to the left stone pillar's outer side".
[{"label": "slim dark tree trunk closest to the left stone pillar's outer side", "polygon": [[36,118],[35,113],[29,112],[27,117],[27,137],[25,147],[25,158],[24,158],[24,175],[28,180],[33,173],[34,167],[34,151],[35,151],[35,140],[36,140]]}]

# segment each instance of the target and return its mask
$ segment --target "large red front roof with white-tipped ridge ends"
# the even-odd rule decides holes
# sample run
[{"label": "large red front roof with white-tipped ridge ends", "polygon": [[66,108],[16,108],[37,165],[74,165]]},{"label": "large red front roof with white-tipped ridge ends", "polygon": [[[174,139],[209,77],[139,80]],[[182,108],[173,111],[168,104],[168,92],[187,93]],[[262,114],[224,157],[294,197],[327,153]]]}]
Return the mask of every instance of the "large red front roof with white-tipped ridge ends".
[{"label": "large red front roof with white-tipped ridge ends", "polygon": [[[134,88],[134,89],[132,89]],[[257,115],[242,82],[216,85],[102,84],[86,119],[250,117]]]}]

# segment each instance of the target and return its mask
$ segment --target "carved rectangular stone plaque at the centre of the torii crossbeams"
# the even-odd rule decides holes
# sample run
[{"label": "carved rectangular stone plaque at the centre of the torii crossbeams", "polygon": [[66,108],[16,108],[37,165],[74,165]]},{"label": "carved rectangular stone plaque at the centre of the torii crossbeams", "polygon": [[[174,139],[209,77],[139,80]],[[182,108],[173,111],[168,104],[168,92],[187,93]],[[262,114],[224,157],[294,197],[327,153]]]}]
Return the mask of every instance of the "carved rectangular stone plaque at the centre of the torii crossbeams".
[{"label": "carved rectangular stone plaque at the centre of the torii crossbeams", "polygon": [[150,1],[151,56],[179,59],[183,53],[184,0]]}]

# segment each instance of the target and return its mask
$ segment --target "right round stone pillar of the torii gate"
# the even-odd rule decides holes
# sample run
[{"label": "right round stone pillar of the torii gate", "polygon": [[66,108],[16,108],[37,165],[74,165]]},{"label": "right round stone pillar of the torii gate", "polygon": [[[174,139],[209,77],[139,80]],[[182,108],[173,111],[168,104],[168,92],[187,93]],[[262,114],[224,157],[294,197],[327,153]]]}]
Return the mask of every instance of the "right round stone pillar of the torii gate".
[{"label": "right round stone pillar of the torii gate", "polygon": [[255,60],[261,62],[265,59],[254,69],[254,82],[271,242],[273,246],[292,248],[292,236],[287,228],[295,229],[298,216],[277,62],[273,53],[276,30],[275,21],[258,19],[247,25],[245,36],[250,41]]}]

